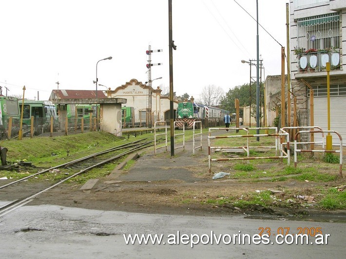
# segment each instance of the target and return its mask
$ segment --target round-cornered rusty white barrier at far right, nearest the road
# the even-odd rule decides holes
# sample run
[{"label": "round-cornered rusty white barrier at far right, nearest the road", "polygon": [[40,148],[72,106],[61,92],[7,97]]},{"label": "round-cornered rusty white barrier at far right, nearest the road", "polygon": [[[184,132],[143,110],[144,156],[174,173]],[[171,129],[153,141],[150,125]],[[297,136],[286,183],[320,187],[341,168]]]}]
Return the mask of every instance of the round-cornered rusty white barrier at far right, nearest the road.
[{"label": "round-cornered rusty white barrier at far right, nearest the road", "polygon": [[[339,150],[325,150],[325,149],[298,149],[297,148],[297,138],[301,133],[335,133],[340,139],[340,149]],[[301,130],[297,132],[294,136],[294,168],[297,167],[297,153],[298,152],[319,152],[319,153],[340,153],[339,158],[339,177],[343,177],[343,138],[340,133],[335,130]]]}]

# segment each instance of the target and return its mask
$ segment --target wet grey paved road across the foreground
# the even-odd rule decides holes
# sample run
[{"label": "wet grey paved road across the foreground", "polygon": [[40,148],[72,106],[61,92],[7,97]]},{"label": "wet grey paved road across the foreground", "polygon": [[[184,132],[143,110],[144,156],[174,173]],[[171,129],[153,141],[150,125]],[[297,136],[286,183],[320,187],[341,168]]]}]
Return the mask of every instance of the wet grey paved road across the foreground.
[{"label": "wet grey paved road across the foreground", "polygon": [[[280,227],[321,228],[327,244],[168,244],[170,234],[259,234]],[[195,217],[97,211],[53,205],[23,206],[0,218],[1,258],[344,258],[345,223],[250,220],[238,217]],[[268,230],[268,228],[267,228]],[[240,231],[240,232],[239,232]],[[266,230],[265,230],[266,232]],[[166,244],[125,244],[123,234],[163,234]],[[228,242],[227,236],[225,241]],[[204,236],[206,241],[207,236]],[[196,240],[196,238],[194,238]],[[283,239],[279,239],[283,240]],[[313,239],[314,240],[314,239]],[[171,239],[170,242],[173,242]],[[251,241],[252,242],[252,241]]]}]

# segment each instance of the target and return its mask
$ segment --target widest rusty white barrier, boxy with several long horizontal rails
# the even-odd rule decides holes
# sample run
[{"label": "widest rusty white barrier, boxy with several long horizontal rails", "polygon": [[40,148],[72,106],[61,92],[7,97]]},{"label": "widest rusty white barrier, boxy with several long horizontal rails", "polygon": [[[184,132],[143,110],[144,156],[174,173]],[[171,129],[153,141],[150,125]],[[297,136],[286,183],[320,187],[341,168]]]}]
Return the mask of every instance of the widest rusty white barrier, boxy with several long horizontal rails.
[{"label": "widest rusty white barrier, boxy with several long horizontal rails", "polygon": [[[275,127],[266,127],[266,128],[251,128],[251,129],[274,129],[274,134],[249,134],[248,128],[229,128],[229,130],[245,130],[247,131],[247,135],[231,135],[231,136],[211,136],[211,129],[222,129],[225,128],[209,128],[209,136],[208,136],[208,162],[209,162],[209,173],[211,173],[211,162],[212,161],[230,161],[230,160],[254,160],[254,159],[282,159],[287,158],[287,164],[289,166],[289,148],[288,152],[285,150],[280,150],[280,156],[277,156],[277,149],[279,148],[278,137],[286,136],[287,145],[289,147],[289,134],[285,130],[281,130],[281,132],[277,133],[277,128]],[[271,147],[250,147],[250,137],[275,137],[275,146]],[[218,138],[247,138],[247,146],[246,147],[211,147],[211,139]],[[239,157],[239,158],[213,158],[211,159],[211,150],[216,148],[243,148],[247,151],[247,157]],[[265,157],[250,157],[250,148],[275,148],[275,156],[265,156]]]}]

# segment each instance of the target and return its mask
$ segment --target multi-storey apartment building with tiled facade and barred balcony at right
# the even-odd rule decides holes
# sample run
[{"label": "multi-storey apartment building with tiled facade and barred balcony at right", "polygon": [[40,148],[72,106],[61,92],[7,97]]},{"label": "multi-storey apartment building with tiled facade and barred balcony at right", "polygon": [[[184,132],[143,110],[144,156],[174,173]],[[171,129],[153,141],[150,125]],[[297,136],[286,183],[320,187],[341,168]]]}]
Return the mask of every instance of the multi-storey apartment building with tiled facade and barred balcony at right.
[{"label": "multi-storey apartment building with tiled facade and barred balcony at right", "polygon": [[[291,90],[297,97],[299,124],[309,125],[312,89],[314,125],[328,129],[329,62],[330,129],[346,139],[346,0],[290,0],[289,18]],[[315,140],[319,138],[315,134]]]}]

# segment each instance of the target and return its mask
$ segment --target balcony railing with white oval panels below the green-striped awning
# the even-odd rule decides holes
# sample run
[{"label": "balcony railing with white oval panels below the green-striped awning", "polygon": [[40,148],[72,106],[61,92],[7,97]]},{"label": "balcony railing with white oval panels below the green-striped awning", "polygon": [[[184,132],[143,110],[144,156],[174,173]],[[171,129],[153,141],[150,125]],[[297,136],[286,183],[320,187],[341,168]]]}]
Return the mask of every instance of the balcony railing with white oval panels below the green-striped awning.
[{"label": "balcony railing with white oval panels below the green-striped awning", "polygon": [[298,57],[298,73],[326,71],[326,63],[330,62],[330,70],[341,70],[340,50],[320,50],[300,53]]}]

